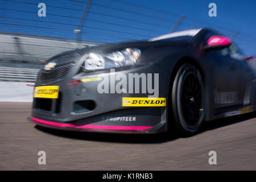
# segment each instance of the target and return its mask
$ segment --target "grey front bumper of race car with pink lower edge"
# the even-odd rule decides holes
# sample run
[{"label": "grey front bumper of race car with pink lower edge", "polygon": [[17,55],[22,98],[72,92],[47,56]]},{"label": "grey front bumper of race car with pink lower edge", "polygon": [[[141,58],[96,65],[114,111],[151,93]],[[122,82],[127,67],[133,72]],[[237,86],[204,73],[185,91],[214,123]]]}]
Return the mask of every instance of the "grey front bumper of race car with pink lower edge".
[{"label": "grey front bumper of race car with pink lower edge", "polygon": [[[170,76],[160,67],[153,65],[120,72],[125,75],[161,72],[162,74],[159,76],[161,82],[167,82]],[[114,75],[113,73],[105,74],[109,80]],[[77,85],[67,85],[67,82],[72,80],[82,80],[82,82]],[[159,84],[158,103],[151,104],[150,102],[151,105],[131,106],[131,100],[134,98],[148,100],[148,93],[101,94],[97,90],[100,82],[97,75],[85,74],[67,77],[63,81],[45,86],[36,84],[35,90],[37,88],[57,88],[59,96],[55,97],[55,94],[51,94],[51,97],[42,98],[39,95],[40,90],[36,90],[36,96],[39,95],[39,97],[35,97],[34,94],[31,121],[37,125],[63,130],[106,133],[160,133],[167,131],[168,84]],[[131,100],[129,101],[129,99]],[[165,105],[158,105],[163,100]],[[130,104],[126,104],[125,101]]]}]

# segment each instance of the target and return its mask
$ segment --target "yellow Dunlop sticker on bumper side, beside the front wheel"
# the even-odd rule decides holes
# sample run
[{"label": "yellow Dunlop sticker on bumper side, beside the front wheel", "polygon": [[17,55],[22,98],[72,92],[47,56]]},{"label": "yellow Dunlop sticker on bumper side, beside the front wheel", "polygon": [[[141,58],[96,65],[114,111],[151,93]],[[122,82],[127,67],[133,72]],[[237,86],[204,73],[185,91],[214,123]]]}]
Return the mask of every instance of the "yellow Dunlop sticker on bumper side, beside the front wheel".
[{"label": "yellow Dunlop sticker on bumper side, beside the front wheel", "polygon": [[166,106],[166,98],[123,97],[122,106],[156,107]]}]

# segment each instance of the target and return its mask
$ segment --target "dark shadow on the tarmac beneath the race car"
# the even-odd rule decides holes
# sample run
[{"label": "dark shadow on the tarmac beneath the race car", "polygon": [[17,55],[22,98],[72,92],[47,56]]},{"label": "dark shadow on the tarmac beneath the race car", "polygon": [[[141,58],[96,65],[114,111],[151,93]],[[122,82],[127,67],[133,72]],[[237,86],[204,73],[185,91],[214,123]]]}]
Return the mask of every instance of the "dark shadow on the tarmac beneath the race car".
[{"label": "dark shadow on the tarmac beneath the race car", "polygon": [[[216,119],[214,121],[204,122],[197,134],[205,131],[218,129],[220,127],[233,125],[256,117],[256,112],[238,115],[229,118]],[[176,133],[159,133],[159,134],[108,134],[108,133],[86,133],[81,131],[65,131],[49,129],[47,127],[35,126],[36,129],[64,138],[73,138],[80,140],[93,140],[99,142],[115,142],[115,143],[164,143],[176,140],[179,137]],[[196,134],[196,135],[197,135]]]}]

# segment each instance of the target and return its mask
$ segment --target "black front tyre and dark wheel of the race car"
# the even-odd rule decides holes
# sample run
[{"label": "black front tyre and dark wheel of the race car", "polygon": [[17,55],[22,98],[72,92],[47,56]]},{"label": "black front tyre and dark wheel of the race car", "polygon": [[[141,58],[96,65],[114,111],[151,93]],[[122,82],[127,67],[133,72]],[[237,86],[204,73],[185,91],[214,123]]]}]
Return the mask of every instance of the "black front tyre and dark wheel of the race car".
[{"label": "black front tyre and dark wheel of the race car", "polygon": [[205,88],[199,69],[187,63],[180,67],[172,87],[172,114],[181,135],[195,134],[205,115]]}]

